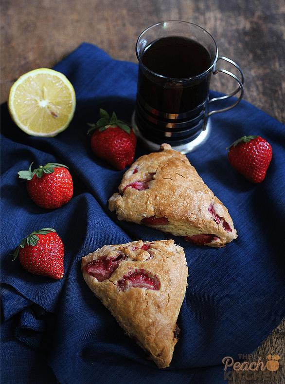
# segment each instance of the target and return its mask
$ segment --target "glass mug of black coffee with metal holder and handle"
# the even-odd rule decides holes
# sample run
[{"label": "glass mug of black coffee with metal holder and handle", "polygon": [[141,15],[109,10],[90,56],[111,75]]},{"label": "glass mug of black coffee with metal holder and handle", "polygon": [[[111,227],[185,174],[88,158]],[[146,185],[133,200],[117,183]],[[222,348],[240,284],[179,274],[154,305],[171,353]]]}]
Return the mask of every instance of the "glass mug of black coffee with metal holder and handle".
[{"label": "glass mug of black coffee with metal holder and handle", "polygon": [[[183,154],[204,143],[211,131],[209,116],[234,107],[244,93],[244,76],[239,66],[218,55],[214,38],[203,28],[186,21],[162,21],[147,28],[136,43],[139,60],[136,108],[132,117],[135,134],[150,151],[168,143]],[[237,68],[216,69],[218,60]],[[212,73],[233,77],[238,88],[231,94],[209,99]],[[209,111],[215,100],[240,91],[230,106]]]}]

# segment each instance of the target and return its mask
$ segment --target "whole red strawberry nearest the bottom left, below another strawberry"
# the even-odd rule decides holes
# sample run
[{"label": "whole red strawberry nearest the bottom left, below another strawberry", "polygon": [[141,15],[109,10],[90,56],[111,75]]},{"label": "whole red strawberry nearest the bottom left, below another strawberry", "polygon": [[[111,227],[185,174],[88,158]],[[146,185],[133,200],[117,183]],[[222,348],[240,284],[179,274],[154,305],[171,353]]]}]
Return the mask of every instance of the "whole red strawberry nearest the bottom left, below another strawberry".
[{"label": "whole red strawberry nearest the bottom left, below another strawberry", "polygon": [[14,252],[21,265],[36,275],[61,279],[64,274],[64,247],[53,228],[35,230],[21,241]]}]

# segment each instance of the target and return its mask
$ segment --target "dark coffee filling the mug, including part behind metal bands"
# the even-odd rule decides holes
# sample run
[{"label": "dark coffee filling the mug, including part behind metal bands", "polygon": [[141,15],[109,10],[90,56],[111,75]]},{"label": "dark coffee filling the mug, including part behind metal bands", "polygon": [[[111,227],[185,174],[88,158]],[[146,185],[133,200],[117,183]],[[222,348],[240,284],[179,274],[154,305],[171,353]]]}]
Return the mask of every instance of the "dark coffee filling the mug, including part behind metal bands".
[{"label": "dark coffee filling the mug, including part behind metal bands", "polygon": [[148,45],[141,60],[136,123],[142,134],[170,144],[198,135],[205,125],[211,76],[207,49],[190,38],[169,36]]}]

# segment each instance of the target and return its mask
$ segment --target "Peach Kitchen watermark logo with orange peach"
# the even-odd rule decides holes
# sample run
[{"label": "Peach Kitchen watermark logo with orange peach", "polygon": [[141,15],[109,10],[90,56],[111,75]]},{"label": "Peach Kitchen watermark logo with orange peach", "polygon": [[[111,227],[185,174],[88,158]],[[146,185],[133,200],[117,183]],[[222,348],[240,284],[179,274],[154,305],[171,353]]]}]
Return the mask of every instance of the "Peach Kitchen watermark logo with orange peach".
[{"label": "Peach Kitchen watermark logo with orange peach", "polygon": [[[248,359],[248,355],[238,354],[240,360]],[[224,366],[224,379],[232,380],[233,376],[241,376],[245,380],[254,380],[254,379],[263,379],[270,380],[280,378],[280,376],[285,377],[285,372],[282,365],[280,365],[279,361],[281,361],[281,357],[277,354],[268,354],[267,361],[261,357],[258,358],[257,361],[243,361],[243,362],[235,362],[231,356],[226,356],[223,358],[222,362]],[[231,370],[229,370],[231,368]]]}]

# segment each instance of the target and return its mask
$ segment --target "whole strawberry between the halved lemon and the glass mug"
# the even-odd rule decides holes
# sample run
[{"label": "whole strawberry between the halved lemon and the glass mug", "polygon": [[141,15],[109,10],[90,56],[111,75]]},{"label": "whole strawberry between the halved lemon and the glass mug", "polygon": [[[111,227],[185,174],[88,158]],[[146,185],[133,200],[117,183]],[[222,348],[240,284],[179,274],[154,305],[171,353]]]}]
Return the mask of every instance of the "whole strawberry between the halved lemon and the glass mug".
[{"label": "whole strawberry between the halved lemon and the glass mug", "polygon": [[119,120],[114,112],[110,118],[106,111],[100,109],[100,116],[96,124],[89,124],[92,151],[97,157],[122,171],[133,162],[137,137],[130,125]]}]

